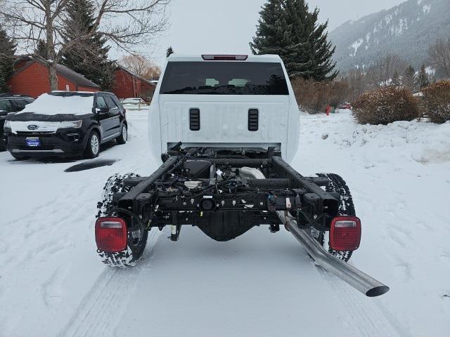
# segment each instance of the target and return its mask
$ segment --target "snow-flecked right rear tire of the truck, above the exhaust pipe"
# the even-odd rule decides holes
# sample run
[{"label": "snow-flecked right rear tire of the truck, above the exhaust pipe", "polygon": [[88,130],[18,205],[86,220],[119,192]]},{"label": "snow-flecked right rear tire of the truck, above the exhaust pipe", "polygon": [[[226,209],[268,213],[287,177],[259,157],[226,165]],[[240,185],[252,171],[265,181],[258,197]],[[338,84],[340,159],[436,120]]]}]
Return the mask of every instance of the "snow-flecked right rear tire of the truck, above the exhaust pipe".
[{"label": "snow-flecked right rear tire of the truck, above the exhaust pipe", "polygon": [[[350,193],[350,189],[347,186],[347,183],[345,183],[345,180],[334,173],[317,173],[317,176],[328,178],[328,180],[330,180],[330,183],[326,187],[326,192],[338,192],[342,196],[339,204],[339,215],[356,216],[352,194]],[[347,262],[352,257],[352,251],[335,251],[329,246],[329,232],[319,232],[315,230],[312,234],[322,245],[328,244],[328,251],[337,258],[340,258],[340,260]]]}]

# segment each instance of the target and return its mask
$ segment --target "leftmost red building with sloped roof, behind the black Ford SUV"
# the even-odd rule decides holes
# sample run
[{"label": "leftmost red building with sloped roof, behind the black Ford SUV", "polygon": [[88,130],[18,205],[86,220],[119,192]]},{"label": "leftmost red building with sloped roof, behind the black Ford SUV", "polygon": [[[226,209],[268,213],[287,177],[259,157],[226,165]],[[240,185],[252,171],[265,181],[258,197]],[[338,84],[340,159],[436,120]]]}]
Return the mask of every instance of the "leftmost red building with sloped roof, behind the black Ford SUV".
[{"label": "leftmost red building with sloped roof, behind the black Ford SUV", "polygon": [[[100,91],[100,86],[64,65],[56,65],[58,90]],[[49,69],[41,58],[25,58],[15,65],[15,72],[8,80],[11,93],[37,98],[50,90]]]}]

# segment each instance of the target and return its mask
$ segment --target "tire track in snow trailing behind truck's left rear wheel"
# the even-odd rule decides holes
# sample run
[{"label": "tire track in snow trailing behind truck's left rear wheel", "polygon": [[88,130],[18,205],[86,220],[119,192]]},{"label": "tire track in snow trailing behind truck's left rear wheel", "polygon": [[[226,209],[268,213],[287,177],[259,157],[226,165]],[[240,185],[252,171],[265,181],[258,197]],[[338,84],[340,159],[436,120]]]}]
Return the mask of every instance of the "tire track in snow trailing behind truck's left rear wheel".
[{"label": "tire track in snow trailing behind truck's left rear wheel", "polygon": [[[159,236],[158,230],[150,231],[144,258],[150,259]],[[141,260],[140,265],[127,269],[105,267],[58,336],[113,336],[113,331],[124,314],[126,303],[136,291],[139,274],[143,268],[148,267],[148,263],[143,262]]]}]

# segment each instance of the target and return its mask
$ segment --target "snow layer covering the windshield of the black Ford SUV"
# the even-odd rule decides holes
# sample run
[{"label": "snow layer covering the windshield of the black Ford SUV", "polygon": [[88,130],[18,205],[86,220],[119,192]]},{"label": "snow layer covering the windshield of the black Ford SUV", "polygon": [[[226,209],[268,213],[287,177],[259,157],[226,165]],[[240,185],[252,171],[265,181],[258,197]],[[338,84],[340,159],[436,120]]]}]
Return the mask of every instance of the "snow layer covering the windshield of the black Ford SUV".
[{"label": "snow layer covering the windshield of the black Ford SUV", "polygon": [[24,110],[18,112],[34,112],[35,114],[89,114],[94,106],[94,95],[89,96],[56,96],[44,93]]}]

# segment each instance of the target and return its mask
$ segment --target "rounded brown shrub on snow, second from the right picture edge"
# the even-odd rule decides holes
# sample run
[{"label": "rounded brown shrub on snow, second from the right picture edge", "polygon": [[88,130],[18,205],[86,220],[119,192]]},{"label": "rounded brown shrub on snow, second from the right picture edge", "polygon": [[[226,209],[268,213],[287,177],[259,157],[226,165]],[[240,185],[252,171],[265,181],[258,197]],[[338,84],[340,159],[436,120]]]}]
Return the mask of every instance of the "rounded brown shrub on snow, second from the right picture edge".
[{"label": "rounded brown shrub on snow, second from the right picture edge", "polygon": [[389,124],[419,117],[418,100],[404,88],[381,88],[363,93],[353,103],[359,124]]}]

